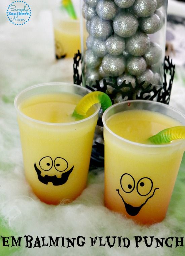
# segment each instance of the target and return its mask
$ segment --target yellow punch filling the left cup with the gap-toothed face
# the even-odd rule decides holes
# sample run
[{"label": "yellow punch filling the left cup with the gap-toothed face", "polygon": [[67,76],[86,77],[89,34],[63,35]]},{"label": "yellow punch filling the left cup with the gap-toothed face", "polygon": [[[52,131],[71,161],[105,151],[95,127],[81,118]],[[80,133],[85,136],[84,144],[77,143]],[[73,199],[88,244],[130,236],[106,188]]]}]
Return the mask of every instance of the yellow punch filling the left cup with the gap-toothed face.
[{"label": "yellow punch filling the left cup with the gap-toothed face", "polygon": [[[75,122],[71,114],[80,98],[70,93],[43,94],[19,106],[25,115],[47,122],[18,116],[26,179],[37,197],[49,204],[74,200],[86,187],[97,115]],[[95,110],[91,108],[86,117]],[[62,175],[70,170],[62,183]]]}]

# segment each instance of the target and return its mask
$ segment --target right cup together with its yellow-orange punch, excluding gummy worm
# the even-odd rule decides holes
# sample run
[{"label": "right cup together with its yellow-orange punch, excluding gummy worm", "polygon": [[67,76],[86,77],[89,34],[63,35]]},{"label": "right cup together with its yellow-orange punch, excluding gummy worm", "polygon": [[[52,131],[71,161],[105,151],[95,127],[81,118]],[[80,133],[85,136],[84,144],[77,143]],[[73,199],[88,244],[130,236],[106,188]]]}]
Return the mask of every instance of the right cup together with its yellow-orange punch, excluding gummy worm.
[{"label": "right cup together with its yellow-orange punch, excluding gummy worm", "polygon": [[162,103],[115,104],[103,115],[105,205],[127,218],[152,224],[165,218],[184,152],[184,141],[150,145],[147,139],[185,116]]}]

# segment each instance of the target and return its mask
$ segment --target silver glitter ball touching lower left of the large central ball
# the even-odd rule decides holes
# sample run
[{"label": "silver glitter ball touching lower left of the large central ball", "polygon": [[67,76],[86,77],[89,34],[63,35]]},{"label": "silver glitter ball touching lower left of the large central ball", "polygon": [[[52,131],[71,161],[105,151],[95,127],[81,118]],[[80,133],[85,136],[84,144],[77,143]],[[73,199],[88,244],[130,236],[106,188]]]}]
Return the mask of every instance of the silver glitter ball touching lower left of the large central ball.
[{"label": "silver glitter ball touching lower left of the large central ball", "polygon": [[111,55],[120,55],[123,53],[125,49],[125,40],[124,38],[118,36],[118,35],[111,35],[107,38],[106,42],[106,49],[107,52]]}]

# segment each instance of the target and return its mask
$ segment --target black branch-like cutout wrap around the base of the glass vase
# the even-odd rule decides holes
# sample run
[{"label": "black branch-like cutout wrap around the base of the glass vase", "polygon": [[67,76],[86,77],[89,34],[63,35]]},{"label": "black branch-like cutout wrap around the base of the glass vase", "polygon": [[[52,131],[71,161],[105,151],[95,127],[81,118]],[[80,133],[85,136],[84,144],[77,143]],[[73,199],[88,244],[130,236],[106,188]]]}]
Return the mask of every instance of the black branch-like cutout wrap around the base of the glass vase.
[{"label": "black branch-like cutout wrap around the base of the glass vase", "polygon": [[[73,80],[75,84],[82,85],[82,76],[79,75],[79,64],[81,62],[81,53],[78,51],[74,56],[74,75]],[[169,75],[167,79],[167,75]],[[112,104],[125,100],[132,99],[147,99],[150,101],[157,101],[164,104],[169,104],[170,95],[172,90],[173,79],[175,75],[175,65],[172,64],[172,60],[165,56],[164,59],[164,74],[162,85],[149,84],[147,87],[143,87],[142,83],[136,81],[136,86],[133,88],[131,83],[122,82],[117,84],[117,79],[110,78],[109,81],[103,79],[102,81],[96,81],[93,84],[86,87],[91,91],[102,91],[109,95]],[[168,81],[167,81],[168,80]],[[99,119],[96,126],[95,138],[93,150],[91,153],[91,167],[103,167],[104,166],[104,140],[103,140],[103,123],[102,123],[102,111],[99,112]]]}]

